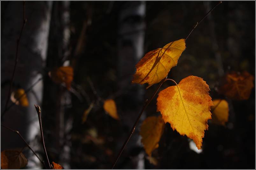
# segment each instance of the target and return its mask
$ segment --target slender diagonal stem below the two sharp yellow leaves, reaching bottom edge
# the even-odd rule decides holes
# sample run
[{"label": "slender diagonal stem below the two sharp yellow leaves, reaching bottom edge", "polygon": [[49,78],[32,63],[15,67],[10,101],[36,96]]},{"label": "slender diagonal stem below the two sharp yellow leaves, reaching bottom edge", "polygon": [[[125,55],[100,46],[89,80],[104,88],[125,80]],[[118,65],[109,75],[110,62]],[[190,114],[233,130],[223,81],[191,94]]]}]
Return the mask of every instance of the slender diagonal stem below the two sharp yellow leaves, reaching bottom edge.
[{"label": "slender diagonal stem below the two sharp yellow leaves, reaching bottom edge", "polygon": [[123,152],[123,150],[124,150],[126,144],[127,144],[128,141],[130,140],[130,138],[131,138],[133,132],[135,131],[135,128],[136,128],[136,126],[137,126],[137,124],[138,124],[138,122],[139,122],[139,119],[140,119],[142,113],[144,112],[144,110],[146,109],[146,107],[148,106],[148,104],[152,101],[152,99],[155,97],[157,91],[160,89],[161,85],[165,82],[166,79],[167,79],[167,76],[166,76],[165,79],[163,79],[163,80],[160,82],[160,84],[159,84],[158,88],[156,89],[156,91],[154,92],[153,96],[152,96],[149,100],[146,99],[145,104],[144,104],[142,110],[141,110],[140,113],[139,113],[139,116],[137,117],[135,123],[134,123],[133,126],[132,126],[132,129],[131,129],[131,131],[130,131],[129,136],[127,137],[126,141],[124,142],[122,148],[121,148],[120,151],[119,151],[119,154],[117,155],[116,161],[115,161],[115,163],[113,164],[112,169],[115,167],[115,165],[116,165],[116,163],[117,163],[117,161],[118,161],[120,155],[122,154],[122,152]]}]

